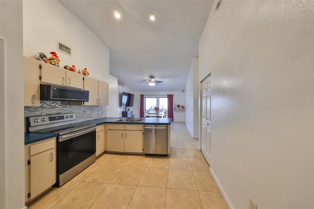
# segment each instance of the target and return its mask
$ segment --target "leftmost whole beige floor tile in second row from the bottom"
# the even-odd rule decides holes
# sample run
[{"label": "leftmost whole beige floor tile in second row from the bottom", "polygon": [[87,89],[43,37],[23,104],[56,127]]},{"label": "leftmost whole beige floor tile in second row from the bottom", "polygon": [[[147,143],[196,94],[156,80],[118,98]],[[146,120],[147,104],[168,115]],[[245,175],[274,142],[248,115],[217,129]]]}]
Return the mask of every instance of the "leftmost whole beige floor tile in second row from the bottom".
[{"label": "leftmost whole beige floor tile in second row from the bottom", "polygon": [[111,180],[113,180],[113,178],[121,170],[121,168],[122,166],[119,165],[104,164],[99,169],[97,169],[97,171],[87,177],[84,182],[110,183]]}]

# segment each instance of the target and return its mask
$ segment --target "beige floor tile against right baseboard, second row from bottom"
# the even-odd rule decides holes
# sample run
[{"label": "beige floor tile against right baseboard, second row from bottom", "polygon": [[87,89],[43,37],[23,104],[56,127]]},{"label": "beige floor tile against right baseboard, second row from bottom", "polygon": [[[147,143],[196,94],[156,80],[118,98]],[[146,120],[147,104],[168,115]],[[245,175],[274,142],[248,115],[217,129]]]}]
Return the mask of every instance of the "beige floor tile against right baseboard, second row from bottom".
[{"label": "beige floor tile against right baseboard, second row from bottom", "polygon": [[209,171],[193,171],[199,191],[220,192]]}]

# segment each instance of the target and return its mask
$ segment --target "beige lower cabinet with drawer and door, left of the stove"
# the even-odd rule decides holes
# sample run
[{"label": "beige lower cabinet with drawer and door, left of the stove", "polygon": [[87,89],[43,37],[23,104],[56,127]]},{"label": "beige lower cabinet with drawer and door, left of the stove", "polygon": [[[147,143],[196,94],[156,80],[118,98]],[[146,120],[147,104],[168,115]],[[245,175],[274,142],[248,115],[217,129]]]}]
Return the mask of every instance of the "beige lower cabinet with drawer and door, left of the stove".
[{"label": "beige lower cabinet with drawer and door, left of the stove", "polygon": [[56,138],[25,146],[25,202],[29,203],[56,183]]}]

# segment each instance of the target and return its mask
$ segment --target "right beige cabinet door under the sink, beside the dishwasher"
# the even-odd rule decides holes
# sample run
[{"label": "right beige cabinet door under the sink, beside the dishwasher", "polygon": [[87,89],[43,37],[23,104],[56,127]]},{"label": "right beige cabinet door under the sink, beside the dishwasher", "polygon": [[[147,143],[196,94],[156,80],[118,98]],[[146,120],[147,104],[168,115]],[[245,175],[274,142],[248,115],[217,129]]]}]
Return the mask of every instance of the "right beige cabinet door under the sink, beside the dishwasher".
[{"label": "right beige cabinet door under the sink, beside the dishwasher", "polygon": [[124,151],[143,153],[143,131],[125,131]]}]

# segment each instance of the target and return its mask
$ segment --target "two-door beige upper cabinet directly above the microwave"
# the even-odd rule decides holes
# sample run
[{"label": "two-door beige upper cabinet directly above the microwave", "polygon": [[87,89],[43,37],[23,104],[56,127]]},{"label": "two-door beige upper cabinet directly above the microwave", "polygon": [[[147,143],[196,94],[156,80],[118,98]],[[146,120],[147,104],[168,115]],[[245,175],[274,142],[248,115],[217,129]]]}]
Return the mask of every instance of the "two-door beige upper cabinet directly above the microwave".
[{"label": "two-door beige upper cabinet directly above the microwave", "polygon": [[83,88],[83,76],[81,74],[56,67],[51,64],[41,63],[41,81],[56,85]]}]

